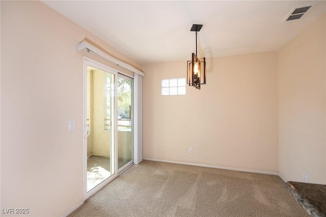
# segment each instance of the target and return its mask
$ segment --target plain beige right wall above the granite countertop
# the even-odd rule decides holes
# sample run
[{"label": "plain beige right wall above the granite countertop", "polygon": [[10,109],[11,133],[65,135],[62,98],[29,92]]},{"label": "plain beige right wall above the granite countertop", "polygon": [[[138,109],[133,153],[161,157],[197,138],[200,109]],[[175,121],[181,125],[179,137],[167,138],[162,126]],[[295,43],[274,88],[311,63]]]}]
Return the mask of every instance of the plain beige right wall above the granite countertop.
[{"label": "plain beige right wall above the granite countertop", "polygon": [[325,16],[278,51],[279,172],[326,183]]}]

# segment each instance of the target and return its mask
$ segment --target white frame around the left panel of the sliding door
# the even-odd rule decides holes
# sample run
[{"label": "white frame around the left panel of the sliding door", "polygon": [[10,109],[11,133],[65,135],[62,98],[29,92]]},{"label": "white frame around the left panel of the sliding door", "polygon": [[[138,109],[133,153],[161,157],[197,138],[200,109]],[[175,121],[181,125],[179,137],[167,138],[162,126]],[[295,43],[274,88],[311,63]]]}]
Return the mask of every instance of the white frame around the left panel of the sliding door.
[{"label": "white frame around the left panel of the sliding door", "polygon": [[[84,201],[95,194],[99,189],[101,189],[103,186],[105,186],[107,183],[111,182],[114,178],[117,177],[118,175],[118,164],[116,161],[118,160],[116,156],[118,156],[118,130],[117,130],[117,125],[118,125],[118,119],[115,117],[114,120],[111,120],[111,127],[115,127],[114,130],[114,146],[113,149],[114,151],[112,152],[112,146],[110,147],[110,152],[111,156],[113,157],[113,161],[115,162],[115,167],[114,167],[114,173],[102,181],[100,184],[95,186],[91,191],[87,192],[87,66],[92,66],[94,68],[98,68],[100,70],[103,70],[105,72],[109,72],[115,75],[115,92],[114,92],[114,100],[115,100],[115,106],[114,106],[114,114],[118,113],[118,72],[111,68],[108,67],[102,63],[99,63],[95,60],[92,60],[90,58],[84,57],[84,76],[83,76],[83,129],[84,129],[84,134],[83,134],[83,156],[84,156],[84,164],[83,164],[83,171],[84,171]],[[111,165],[112,168],[112,165]],[[112,173],[112,171],[111,171]]]}]

